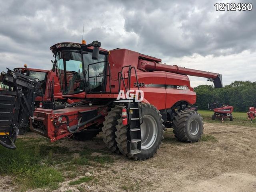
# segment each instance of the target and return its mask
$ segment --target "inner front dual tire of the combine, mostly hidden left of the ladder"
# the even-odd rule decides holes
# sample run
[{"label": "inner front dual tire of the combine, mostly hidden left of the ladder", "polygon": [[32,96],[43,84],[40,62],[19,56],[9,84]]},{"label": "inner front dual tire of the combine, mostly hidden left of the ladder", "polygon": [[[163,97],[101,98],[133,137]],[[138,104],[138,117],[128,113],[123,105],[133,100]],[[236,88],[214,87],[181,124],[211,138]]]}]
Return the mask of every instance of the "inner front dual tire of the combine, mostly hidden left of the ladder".
[{"label": "inner front dual tire of the combine, mostly hidden left of the ladder", "polygon": [[103,132],[103,141],[113,153],[120,153],[117,143],[116,143],[116,125],[118,124],[118,119],[122,116],[123,106],[116,106],[108,112],[108,115],[105,117],[103,122],[102,132]]}]

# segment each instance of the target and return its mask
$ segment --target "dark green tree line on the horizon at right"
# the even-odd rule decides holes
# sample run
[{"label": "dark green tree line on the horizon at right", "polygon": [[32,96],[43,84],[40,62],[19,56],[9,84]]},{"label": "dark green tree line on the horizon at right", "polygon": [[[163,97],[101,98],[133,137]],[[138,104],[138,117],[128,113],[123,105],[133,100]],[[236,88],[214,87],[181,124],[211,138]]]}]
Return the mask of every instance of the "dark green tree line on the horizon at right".
[{"label": "dark green tree line on the horizon at right", "polygon": [[213,85],[199,85],[196,92],[196,106],[208,110],[208,102],[224,103],[234,107],[236,112],[247,112],[249,107],[256,107],[256,81],[235,81],[223,88]]}]

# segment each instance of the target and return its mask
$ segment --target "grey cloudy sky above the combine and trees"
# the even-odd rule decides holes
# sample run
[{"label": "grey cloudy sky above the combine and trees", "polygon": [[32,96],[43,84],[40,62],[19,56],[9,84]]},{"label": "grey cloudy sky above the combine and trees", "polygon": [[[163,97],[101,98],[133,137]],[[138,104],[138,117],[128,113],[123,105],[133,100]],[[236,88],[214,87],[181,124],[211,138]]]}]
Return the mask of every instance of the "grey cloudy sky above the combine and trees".
[{"label": "grey cloudy sky above the combine and trees", "polygon": [[[256,81],[256,1],[252,11],[216,11],[199,0],[0,0],[0,71],[50,69],[50,46],[98,40],[163,63],[222,74],[224,84]],[[236,4],[243,1],[234,1]],[[248,1],[249,2],[249,1]],[[190,77],[192,86],[209,84]]]}]

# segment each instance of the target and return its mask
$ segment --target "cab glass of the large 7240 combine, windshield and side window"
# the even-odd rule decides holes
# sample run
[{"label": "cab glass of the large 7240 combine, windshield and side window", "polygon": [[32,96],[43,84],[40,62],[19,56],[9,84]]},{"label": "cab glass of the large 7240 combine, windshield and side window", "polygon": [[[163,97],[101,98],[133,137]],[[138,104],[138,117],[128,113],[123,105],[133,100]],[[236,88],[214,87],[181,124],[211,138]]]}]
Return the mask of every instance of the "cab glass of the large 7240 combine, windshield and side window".
[{"label": "cab glass of the large 7240 combine, windshield and side window", "polygon": [[[82,65],[82,59],[84,67]],[[106,55],[100,54],[98,60],[92,60],[92,53],[83,51],[59,51],[56,55],[58,77],[63,95],[78,94],[90,90],[102,91],[104,88],[105,63]],[[94,65],[89,65],[96,63]],[[89,67],[88,67],[89,66]],[[89,69],[89,70],[88,70]],[[85,76],[84,76],[85,74]],[[89,78],[90,77],[92,78]],[[93,77],[94,76],[94,77]],[[99,76],[97,78],[97,76]],[[90,84],[90,85],[89,85]]]}]

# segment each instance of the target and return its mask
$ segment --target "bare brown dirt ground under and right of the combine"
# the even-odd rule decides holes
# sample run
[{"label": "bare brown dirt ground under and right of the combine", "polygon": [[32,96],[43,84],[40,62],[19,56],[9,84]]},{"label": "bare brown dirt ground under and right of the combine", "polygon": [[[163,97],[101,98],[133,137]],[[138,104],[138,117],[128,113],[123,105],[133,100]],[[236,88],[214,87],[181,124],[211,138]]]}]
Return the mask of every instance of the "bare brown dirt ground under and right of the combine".
[{"label": "bare brown dirt ground under and right of the combine", "polygon": [[[197,143],[181,143],[168,129],[154,158],[131,161],[114,155],[114,163],[105,168],[84,169],[81,176],[93,174],[98,182],[70,186],[67,180],[56,191],[256,191],[256,129],[204,127]],[[79,143],[66,139],[60,145],[106,149],[100,137]]]}]

